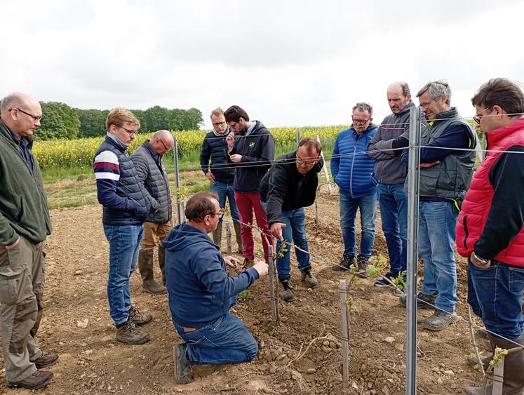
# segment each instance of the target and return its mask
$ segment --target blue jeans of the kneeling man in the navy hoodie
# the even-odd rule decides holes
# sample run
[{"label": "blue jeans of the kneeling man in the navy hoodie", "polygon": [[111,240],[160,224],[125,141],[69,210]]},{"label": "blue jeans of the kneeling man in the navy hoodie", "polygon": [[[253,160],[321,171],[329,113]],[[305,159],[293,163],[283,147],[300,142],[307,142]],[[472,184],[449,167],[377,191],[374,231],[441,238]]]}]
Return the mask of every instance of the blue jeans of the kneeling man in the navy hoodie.
[{"label": "blue jeans of the kneeling man in the navy hoodie", "polygon": [[187,358],[195,365],[248,362],[257,356],[255,337],[229,313],[192,332],[178,324],[176,328],[187,344]]}]

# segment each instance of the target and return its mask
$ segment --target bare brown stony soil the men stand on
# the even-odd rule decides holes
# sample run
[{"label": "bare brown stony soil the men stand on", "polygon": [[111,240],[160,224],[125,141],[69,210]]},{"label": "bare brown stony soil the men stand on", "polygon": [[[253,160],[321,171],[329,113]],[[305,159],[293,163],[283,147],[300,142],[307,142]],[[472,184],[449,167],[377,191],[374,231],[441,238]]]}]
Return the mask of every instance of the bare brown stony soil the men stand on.
[{"label": "bare brown stony soil the men stand on", "polygon": [[[170,319],[167,295],[143,293],[140,274],[135,272],[131,281],[133,300],[142,312],[154,315],[154,321],[145,327],[152,340],[141,346],[116,342],[106,298],[109,247],[102,231],[100,206],[53,210],[54,231],[47,247],[46,310],[39,341],[46,352],[58,352],[60,360],[50,368],[55,373],[53,382],[41,393],[342,393],[338,281],[350,276],[330,269],[339,262],[343,250],[337,196],[321,192],[318,225],[315,216],[315,207],[308,208],[309,249],[320,286],[314,290],[304,288],[293,257],[297,299],[288,304],[280,302],[281,323],[275,329],[268,279],[257,281],[248,299],[239,301],[235,308],[260,343],[257,358],[241,365],[194,366],[196,380],[182,386],[173,377],[172,347],[181,340]],[[379,229],[377,225],[374,256],[387,256]],[[260,243],[260,238],[256,239]],[[225,232],[222,246],[225,250]],[[466,318],[466,265],[462,258],[457,257],[457,261],[457,312]],[[155,270],[158,278],[158,267]],[[403,394],[405,309],[391,290],[374,287],[373,281],[363,279],[350,290],[354,305],[350,316],[349,393]],[[429,314],[427,310],[419,311],[419,320]],[[87,326],[81,327],[86,320]],[[479,341],[487,347],[483,340]],[[470,352],[466,320],[441,333],[419,326],[419,393],[459,394],[464,385],[481,382],[480,373],[466,365]],[[4,370],[0,375],[0,391],[10,391],[5,387]]]}]

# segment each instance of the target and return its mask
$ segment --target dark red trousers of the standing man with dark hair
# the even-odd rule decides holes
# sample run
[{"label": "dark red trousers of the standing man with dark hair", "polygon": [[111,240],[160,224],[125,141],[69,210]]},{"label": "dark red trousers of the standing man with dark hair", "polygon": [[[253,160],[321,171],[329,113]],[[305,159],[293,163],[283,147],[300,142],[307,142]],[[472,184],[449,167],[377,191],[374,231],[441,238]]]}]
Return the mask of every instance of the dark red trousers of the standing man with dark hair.
[{"label": "dark red trousers of the standing man with dark hair", "polygon": [[239,209],[240,221],[242,222],[240,234],[242,236],[243,257],[248,259],[255,258],[255,252],[253,251],[253,229],[244,225],[253,225],[253,211],[255,211],[257,226],[267,235],[267,237],[264,237],[260,234],[262,247],[264,248],[264,259],[266,262],[269,262],[267,246],[268,241],[271,240],[271,232],[269,232],[269,228],[267,227],[266,212],[260,203],[260,194],[246,194],[235,191],[235,201],[236,208]]}]

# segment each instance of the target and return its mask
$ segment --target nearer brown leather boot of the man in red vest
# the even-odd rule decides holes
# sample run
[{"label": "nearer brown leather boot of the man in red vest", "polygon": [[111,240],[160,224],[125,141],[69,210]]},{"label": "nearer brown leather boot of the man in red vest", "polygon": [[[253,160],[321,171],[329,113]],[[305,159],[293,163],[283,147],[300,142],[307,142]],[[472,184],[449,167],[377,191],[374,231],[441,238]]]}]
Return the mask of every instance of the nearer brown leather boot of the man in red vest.
[{"label": "nearer brown leather boot of the man in red vest", "polygon": [[[515,343],[524,346],[524,335],[520,335],[513,340],[504,340],[499,337],[490,336],[490,343],[495,352],[495,347],[502,349],[518,348]],[[504,382],[502,384],[502,394],[521,395],[524,390],[524,349],[513,351],[504,357]],[[483,387],[466,387],[464,392],[469,395],[483,395]],[[485,394],[492,394],[492,385],[486,387]]]}]

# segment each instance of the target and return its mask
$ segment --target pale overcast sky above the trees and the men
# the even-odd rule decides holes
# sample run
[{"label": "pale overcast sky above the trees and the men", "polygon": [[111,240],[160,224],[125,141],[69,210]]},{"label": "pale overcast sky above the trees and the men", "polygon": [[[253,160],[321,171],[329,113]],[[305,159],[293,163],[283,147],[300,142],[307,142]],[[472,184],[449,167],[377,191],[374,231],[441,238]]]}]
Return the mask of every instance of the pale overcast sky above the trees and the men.
[{"label": "pale overcast sky above the trees and the men", "polygon": [[[445,79],[452,105],[524,82],[524,1],[1,0],[0,95],[79,108],[240,105],[266,126],[348,124],[386,88]],[[402,8],[400,8],[402,7]],[[418,105],[418,100],[415,99]],[[45,115],[45,114],[44,114]],[[101,126],[103,127],[103,126]]]}]

